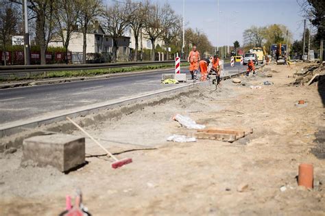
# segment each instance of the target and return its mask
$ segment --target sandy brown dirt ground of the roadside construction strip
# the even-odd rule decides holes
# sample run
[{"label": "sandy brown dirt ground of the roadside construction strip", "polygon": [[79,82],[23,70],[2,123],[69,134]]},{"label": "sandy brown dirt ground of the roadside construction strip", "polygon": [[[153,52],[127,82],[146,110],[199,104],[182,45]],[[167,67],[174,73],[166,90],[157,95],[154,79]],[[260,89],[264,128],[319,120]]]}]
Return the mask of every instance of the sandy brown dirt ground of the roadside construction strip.
[{"label": "sandy brown dirt ground of the roadside construction strip", "polygon": [[[290,84],[303,66],[265,66],[257,76],[240,77],[245,85],[223,81],[217,90],[200,88],[87,127],[104,146],[122,152],[117,157],[132,157],[133,163],[117,170],[90,139],[88,164],[69,174],[21,167],[21,150],[0,154],[0,215],[58,215],[76,188],[93,215],[325,215],[325,160],[312,154],[324,105],[315,83]],[[306,100],[306,107],[295,106],[298,100]],[[167,142],[169,135],[193,132],[171,120],[176,113],[254,133],[233,143]],[[313,190],[297,185],[300,163],[313,163]],[[241,184],[248,187],[239,192]]]}]

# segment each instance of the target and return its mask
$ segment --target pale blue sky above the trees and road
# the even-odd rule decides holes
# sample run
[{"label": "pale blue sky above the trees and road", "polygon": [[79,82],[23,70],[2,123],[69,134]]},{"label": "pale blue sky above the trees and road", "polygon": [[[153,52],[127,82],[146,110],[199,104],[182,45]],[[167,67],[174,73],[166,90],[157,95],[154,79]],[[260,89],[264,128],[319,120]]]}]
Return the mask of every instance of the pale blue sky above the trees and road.
[{"label": "pale blue sky above the trees and road", "polygon": [[[177,14],[183,15],[183,0],[150,1],[167,2]],[[186,27],[206,33],[213,46],[233,45],[235,40],[243,44],[243,31],[252,25],[282,24],[289,28],[293,40],[302,38],[303,18],[296,0],[219,0],[219,33],[218,0],[184,1]]]}]

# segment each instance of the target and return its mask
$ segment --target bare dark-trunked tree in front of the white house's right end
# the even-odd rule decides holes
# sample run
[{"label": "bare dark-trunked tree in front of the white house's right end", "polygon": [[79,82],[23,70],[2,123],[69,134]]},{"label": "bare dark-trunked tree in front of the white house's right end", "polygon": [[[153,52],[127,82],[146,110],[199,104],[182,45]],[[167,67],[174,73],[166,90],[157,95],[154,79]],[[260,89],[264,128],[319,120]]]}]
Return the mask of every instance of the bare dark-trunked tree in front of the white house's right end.
[{"label": "bare dark-trunked tree in front of the white house's right end", "polygon": [[125,4],[115,3],[111,5],[105,14],[106,24],[105,29],[108,35],[113,40],[113,56],[112,61],[117,60],[117,42],[121,36],[123,36],[125,29],[130,25],[131,21],[131,1],[128,1]]}]

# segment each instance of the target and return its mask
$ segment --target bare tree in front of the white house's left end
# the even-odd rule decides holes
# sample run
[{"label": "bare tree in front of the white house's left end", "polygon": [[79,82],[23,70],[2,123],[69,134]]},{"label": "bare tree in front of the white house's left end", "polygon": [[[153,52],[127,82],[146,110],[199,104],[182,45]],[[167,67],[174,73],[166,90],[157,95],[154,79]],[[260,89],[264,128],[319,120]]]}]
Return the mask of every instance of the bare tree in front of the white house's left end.
[{"label": "bare tree in front of the white house's left end", "polygon": [[76,30],[77,20],[80,17],[80,9],[77,0],[62,0],[56,8],[56,21],[58,22],[58,35],[66,50],[66,62],[68,64],[68,47],[73,31]]}]

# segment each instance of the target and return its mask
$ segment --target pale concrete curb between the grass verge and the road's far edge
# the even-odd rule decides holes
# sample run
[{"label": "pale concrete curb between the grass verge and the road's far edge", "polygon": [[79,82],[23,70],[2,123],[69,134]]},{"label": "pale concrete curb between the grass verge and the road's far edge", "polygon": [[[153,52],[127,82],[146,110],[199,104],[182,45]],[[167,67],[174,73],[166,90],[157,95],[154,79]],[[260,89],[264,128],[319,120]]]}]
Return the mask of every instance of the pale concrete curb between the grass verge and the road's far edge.
[{"label": "pale concrete curb between the grass verge and the road's far edge", "polygon": [[[181,67],[181,69],[187,68]],[[143,75],[146,73],[158,72],[158,71],[168,71],[173,70],[173,68],[165,68],[165,69],[157,69],[157,70],[142,70],[137,72],[117,72],[107,75],[99,75],[94,77],[71,77],[71,78],[61,78],[61,79],[41,79],[41,80],[32,80],[32,81],[22,81],[22,82],[14,82],[14,83],[4,83],[0,84],[1,89],[13,88],[13,87],[27,87],[33,85],[50,85],[50,84],[58,84],[58,83],[68,83],[68,82],[76,82],[76,81],[91,81],[91,80],[100,80],[100,79],[109,79],[112,77],[128,77],[135,75]]]}]

